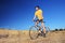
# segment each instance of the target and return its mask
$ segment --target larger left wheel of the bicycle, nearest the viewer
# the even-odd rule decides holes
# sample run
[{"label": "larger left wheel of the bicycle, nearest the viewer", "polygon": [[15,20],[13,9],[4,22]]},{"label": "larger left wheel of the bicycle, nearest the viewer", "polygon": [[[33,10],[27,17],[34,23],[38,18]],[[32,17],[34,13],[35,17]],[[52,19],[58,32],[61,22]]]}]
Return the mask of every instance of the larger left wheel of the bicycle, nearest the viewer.
[{"label": "larger left wheel of the bicycle, nearest the viewer", "polygon": [[29,37],[30,39],[37,39],[38,38],[38,30],[39,30],[39,27],[30,27],[29,29]]}]

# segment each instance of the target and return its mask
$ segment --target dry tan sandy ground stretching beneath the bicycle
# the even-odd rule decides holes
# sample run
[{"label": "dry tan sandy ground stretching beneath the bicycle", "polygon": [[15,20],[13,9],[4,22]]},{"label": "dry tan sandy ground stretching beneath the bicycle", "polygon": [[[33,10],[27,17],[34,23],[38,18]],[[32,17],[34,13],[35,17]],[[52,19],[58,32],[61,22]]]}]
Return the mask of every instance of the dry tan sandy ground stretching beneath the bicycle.
[{"label": "dry tan sandy ground stretching beneath the bicycle", "polygon": [[47,38],[39,37],[36,40],[30,40],[27,30],[0,30],[0,34],[9,34],[1,37],[0,43],[65,43],[65,31],[49,32]]}]

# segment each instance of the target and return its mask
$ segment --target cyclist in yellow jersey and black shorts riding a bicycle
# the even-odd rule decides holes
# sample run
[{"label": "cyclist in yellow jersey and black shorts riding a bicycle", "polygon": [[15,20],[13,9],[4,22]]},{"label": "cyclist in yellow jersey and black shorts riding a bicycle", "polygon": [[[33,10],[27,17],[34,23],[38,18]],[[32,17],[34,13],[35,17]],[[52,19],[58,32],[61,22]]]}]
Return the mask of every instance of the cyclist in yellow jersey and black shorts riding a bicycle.
[{"label": "cyclist in yellow jersey and black shorts riding a bicycle", "polygon": [[[46,37],[46,28],[44,28],[44,24],[43,24],[42,10],[40,9],[39,5],[36,5],[35,9],[36,9],[36,12],[35,12],[35,16],[34,16],[34,20],[37,18],[36,26],[39,23],[41,23],[41,27],[43,28],[43,33],[44,33],[44,37]],[[41,32],[41,30],[39,30],[39,33],[40,32]]]}]

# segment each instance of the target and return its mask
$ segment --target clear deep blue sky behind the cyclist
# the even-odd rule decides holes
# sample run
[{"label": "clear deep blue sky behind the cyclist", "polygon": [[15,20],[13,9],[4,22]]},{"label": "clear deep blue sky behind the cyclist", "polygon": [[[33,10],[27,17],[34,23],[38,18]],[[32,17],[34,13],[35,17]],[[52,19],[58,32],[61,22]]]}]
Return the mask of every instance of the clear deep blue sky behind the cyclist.
[{"label": "clear deep blue sky behind the cyclist", "polygon": [[0,28],[28,30],[35,25],[36,5],[43,11],[46,26],[65,28],[65,0],[0,0]]}]

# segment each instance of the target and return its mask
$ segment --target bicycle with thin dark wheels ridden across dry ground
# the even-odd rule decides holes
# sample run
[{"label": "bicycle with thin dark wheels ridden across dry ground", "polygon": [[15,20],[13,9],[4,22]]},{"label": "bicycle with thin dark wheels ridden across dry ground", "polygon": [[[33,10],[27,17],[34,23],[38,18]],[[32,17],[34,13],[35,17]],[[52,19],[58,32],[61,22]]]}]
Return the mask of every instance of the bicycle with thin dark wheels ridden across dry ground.
[{"label": "bicycle with thin dark wheels ridden across dry ground", "polygon": [[[50,28],[49,27],[44,27],[44,28],[46,28],[46,37],[48,37],[48,32],[50,32]],[[41,33],[39,33],[39,30],[41,30]],[[37,25],[37,26],[31,26],[29,28],[29,37],[31,40],[37,39],[38,37],[43,37],[43,35],[44,35],[43,28],[41,28],[40,26]]]}]

